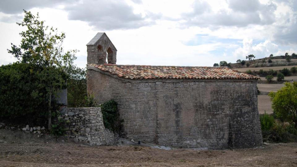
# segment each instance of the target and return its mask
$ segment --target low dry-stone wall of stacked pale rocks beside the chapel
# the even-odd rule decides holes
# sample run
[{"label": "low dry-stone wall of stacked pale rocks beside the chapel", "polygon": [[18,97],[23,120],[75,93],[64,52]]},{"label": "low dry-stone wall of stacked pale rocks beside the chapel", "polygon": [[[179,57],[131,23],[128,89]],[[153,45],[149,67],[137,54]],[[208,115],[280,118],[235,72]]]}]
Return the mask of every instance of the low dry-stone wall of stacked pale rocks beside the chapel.
[{"label": "low dry-stone wall of stacked pale rocks beside the chapel", "polygon": [[68,108],[64,119],[69,120],[67,135],[77,142],[91,146],[113,145],[117,140],[109,129],[105,129],[100,107]]}]

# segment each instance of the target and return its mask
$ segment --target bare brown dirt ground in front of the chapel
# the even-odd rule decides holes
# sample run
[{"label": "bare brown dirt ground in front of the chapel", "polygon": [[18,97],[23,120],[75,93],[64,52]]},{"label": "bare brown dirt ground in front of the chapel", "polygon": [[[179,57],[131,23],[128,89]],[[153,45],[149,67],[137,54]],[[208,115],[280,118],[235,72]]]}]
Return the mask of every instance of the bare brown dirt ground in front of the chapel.
[{"label": "bare brown dirt ground in front of the chapel", "polygon": [[297,166],[297,143],[228,150],[89,147],[0,130],[0,166]]}]

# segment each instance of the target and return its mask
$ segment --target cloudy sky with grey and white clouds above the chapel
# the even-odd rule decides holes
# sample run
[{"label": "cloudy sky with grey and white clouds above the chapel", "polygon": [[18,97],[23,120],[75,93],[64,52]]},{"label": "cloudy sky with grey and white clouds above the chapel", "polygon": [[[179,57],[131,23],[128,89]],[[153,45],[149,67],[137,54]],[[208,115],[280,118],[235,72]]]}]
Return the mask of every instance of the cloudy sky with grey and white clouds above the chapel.
[{"label": "cloudy sky with grey and white clouds above the chapel", "polygon": [[1,0],[0,64],[16,61],[7,49],[19,45],[23,9],[66,33],[64,49],[80,50],[80,67],[97,32],[117,48],[117,64],[212,66],[297,53],[296,0]]}]

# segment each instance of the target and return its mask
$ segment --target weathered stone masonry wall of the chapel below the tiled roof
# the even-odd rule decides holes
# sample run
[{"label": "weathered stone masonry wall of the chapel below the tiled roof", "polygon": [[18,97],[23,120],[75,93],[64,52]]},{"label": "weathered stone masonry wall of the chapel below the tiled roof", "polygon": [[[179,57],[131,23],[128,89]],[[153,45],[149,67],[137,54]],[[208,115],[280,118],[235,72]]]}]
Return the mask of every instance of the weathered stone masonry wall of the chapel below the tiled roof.
[{"label": "weathered stone masonry wall of the chapel below the tiled roof", "polygon": [[127,138],[212,149],[262,144],[255,81],[128,81],[89,69],[88,93],[114,99]]}]

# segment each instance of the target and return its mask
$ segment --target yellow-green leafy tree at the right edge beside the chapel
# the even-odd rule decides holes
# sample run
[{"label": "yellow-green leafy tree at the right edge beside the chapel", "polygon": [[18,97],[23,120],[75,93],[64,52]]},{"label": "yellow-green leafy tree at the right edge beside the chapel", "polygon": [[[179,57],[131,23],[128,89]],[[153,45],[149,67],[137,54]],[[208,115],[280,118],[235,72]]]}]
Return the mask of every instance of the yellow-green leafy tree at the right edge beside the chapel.
[{"label": "yellow-green leafy tree at the right edge beside the chapel", "polygon": [[286,82],[277,92],[268,94],[275,116],[282,122],[289,122],[297,129],[297,82]]}]

